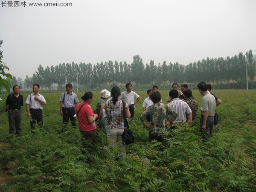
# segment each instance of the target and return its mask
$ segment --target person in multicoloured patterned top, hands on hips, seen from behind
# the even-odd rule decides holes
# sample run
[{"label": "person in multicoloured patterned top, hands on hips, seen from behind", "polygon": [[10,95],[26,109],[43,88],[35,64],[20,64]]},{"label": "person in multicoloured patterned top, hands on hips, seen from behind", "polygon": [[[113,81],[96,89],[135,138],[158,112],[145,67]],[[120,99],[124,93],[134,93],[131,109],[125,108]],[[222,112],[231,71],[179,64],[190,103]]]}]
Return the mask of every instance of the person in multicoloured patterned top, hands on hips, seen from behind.
[{"label": "person in multicoloured patterned top, hands on hips, seen from behind", "polygon": [[[140,116],[140,120],[145,128],[148,128],[149,141],[157,140],[166,144],[166,128],[169,128],[178,113],[167,104],[160,103],[161,94],[159,91],[153,91],[150,95],[153,105],[149,106]],[[147,115],[150,116],[150,124],[145,122]]]}]

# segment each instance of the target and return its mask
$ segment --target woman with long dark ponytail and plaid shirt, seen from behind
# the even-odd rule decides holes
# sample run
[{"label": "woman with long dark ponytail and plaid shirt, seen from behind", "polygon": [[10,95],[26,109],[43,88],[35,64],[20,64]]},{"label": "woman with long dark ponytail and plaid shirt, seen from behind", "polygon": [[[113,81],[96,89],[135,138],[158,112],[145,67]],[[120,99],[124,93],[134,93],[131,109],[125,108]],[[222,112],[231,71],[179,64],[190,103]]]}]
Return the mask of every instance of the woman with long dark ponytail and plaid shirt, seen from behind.
[{"label": "woman with long dark ponytail and plaid shirt, seen from behind", "polygon": [[[108,145],[112,147],[117,141],[120,142],[122,148],[122,159],[125,160],[125,146],[122,143],[122,133],[124,132],[124,117],[123,117],[123,105],[119,99],[121,95],[119,87],[113,87],[111,89],[111,97],[109,101],[105,103],[105,110],[108,115],[107,120],[107,137]],[[125,101],[124,101],[125,102]],[[128,104],[125,102],[125,115],[126,118],[131,117]]]}]

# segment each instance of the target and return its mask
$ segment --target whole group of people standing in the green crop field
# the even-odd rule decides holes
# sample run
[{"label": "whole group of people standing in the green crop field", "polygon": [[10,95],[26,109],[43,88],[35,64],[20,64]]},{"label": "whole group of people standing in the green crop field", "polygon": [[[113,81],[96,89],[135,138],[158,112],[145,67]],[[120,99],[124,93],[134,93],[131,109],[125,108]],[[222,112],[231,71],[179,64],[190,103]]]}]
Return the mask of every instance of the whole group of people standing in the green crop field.
[{"label": "whole group of people standing in the green crop field", "polygon": [[[125,128],[124,117],[134,117],[134,108],[141,99],[137,93],[131,90],[132,84],[127,83],[126,90],[122,93],[116,86],[111,89],[111,92],[102,90],[101,98],[97,102],[97,113],[90,106],[93,102],[92,92],[85,92],[81,97],[83,102],[79,103],[76,93],[72,92],[72,84],[68,83],[65,87],[66,92],[62,93],[59,99],[60,115],[63,119],[62,131],[66,130],[69,120],[75,127],[77,117],[82,140],[95,141],[97,123],[99,128],[106,130],[109,146],[113,146],[119,141],[121,147],[124,148],[121,142]],[[178,90],[176,83],[172,84],[172,88],[167,98],[168,104],[163,104],[156,85],[147,90],[148,97],[143,102],[143,113],[140,120],[144,127],[148,128],[149,141],[157,140],[165,144],[168,128],[175,129],[184,123],[196,124],[198,103],[193,99],[192,91],[186,84],[181,85],[181,91]],[[39,90],[40,86],[34,84],[33,93],[26,99],[27,116],[31,119],[32,131],[36,122],[40,127],[43,125],[42,108],[47,104]],[[221,100],[210,92],[210,84],[200,82],[198,90],[203,96],[200,127],[210,136],[214,124],[215,107],[221,104]],[[6,110],[9,112],[9,133],[15,134],[16,129],[16,134],[20,136],[20,108],[23,106],[23,96],[20,94],[18,85],[13,87],[13,91],[14,93],[9,94],[6,99]]]}]

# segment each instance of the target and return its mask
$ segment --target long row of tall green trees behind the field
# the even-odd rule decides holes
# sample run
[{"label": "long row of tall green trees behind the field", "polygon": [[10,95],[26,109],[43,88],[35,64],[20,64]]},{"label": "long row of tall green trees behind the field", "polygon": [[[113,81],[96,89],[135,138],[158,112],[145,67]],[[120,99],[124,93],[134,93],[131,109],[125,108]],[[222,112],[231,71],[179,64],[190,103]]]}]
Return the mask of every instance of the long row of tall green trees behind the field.
[{"label": "long row of tall green trees behind the field", "polygon": [[[143,64],[140,55],[134,55],[133,62],[118,63],[117,61],[105,61],[104,63],[75,64],[63,63],[56,66],[39,65],[38,70],[32,77],[26,76],[24,87],[30,88],[32,84],[38,83],[46,89],[53,89],[57,85],[58,89],[63,88],[67,82],[79,87],[97,89],[106,85],[125,84],[133,82],[135,84],[171,84],[187,83],[196,84],[200,81],[217,85],[225,85],[225,88],[245,88],[246,65],[248,71],[248,81],[254,82],[256,77],[256,61],[253,59],[253,52],[250,49],[244,55],[227,58],[206,58],[201,61],[189,63],[184,66],[178,62],[155,65],[154,61]],[[249,88],[253,88],[253,83]],[[220,86],[221,87],[221,86]]]}]

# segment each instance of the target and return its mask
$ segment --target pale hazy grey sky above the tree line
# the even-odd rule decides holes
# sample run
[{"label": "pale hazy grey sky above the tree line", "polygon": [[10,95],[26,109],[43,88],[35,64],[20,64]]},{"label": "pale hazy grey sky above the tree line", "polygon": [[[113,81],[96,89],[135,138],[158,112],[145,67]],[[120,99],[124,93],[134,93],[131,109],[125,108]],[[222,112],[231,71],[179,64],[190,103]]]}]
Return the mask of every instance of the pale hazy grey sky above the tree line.
[{"label": "pale hazy grey sky above the tree line", "polygon": [[8,7],[0,0],[0,50],[16,79],[32,77],[39,64],[131,64],[140,55],[144,64],[187,65],[250,49],[255,54],[256,0],[22,1]]}]

